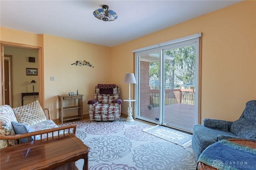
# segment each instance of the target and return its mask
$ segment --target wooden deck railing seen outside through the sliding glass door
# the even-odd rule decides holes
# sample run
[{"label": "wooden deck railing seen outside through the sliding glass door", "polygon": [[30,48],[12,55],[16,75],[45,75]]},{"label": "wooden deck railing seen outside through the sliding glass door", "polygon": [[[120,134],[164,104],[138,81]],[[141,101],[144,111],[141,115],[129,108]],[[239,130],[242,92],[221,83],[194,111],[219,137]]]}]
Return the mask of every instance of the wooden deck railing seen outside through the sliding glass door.
[{"label": "wooden deck railing seen outside through the sliding glass door", "polygon": [[[164,90],[164,105],[177,103],[194,105],[193,89]],[[159,106],[159,90],[150,90],[150,105],[152,107]]]}]

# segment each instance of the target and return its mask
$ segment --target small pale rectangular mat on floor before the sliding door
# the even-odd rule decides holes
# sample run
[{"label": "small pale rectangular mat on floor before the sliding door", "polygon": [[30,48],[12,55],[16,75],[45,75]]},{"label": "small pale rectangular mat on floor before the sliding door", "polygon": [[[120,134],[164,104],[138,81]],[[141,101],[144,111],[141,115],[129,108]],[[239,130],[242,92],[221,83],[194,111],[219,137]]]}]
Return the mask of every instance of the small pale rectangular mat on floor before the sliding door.
[{"label": "small pale rectangular mat on floor before the sliding door", "polygon": [[149,129],[144,129],[143,131],[182,147],[188,147],[188,144],[192,141],[192,135],[189,135],[188,133],[183,133],[181,131],[159,125]]}]

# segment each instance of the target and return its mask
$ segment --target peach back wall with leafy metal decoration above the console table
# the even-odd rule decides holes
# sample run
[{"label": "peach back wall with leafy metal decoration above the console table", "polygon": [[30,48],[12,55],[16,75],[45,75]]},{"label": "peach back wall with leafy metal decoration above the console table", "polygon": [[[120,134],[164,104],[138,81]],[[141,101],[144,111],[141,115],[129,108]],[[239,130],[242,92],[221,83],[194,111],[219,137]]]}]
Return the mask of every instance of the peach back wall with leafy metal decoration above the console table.
[{"label": "peach back wall with leafy metal decoration above the console table", "polygon": [[[80,60],[90,62],[94,68],[71,65]],[[84,114],[89,114],[87,102],[94,98],[98,83],[111,83],[110,70],[110,47],[44,35],[44,99],[45,107],[51,108],[52,119],[58,118],[57,95],[76,94],[77,89],[84,95]],[[54,76],[55,81],[50,81],[50,76]],[[65,105],[74,105],[74,101]],[[66,111],[66,116],[73,112]]]}]

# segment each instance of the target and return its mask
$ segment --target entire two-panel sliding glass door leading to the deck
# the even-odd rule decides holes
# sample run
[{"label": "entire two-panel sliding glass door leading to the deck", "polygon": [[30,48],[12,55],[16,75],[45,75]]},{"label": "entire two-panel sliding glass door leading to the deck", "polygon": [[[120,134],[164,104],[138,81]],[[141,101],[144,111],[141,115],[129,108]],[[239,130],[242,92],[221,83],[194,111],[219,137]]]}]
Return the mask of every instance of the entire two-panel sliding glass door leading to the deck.
[{"label": "entire two-panel sliding glass door leading to the deck", "polygon": [[135,53],[135,118],[192,132],[198,123],[197,39]]}]

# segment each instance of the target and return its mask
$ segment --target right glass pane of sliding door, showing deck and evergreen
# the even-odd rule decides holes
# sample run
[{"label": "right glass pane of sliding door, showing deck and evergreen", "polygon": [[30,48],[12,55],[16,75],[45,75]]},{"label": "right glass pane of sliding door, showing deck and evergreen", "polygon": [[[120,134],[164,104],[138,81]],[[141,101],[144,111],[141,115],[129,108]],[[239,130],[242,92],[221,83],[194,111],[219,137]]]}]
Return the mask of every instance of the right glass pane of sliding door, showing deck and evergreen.
[{"label": "right glass pane of sliding door, showing deck and evergreen", "polygon": [[194,125],[195,45],[164,49],[162,123],[192,131]]}]

